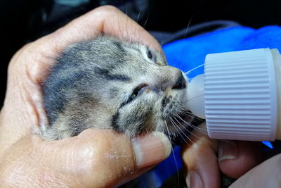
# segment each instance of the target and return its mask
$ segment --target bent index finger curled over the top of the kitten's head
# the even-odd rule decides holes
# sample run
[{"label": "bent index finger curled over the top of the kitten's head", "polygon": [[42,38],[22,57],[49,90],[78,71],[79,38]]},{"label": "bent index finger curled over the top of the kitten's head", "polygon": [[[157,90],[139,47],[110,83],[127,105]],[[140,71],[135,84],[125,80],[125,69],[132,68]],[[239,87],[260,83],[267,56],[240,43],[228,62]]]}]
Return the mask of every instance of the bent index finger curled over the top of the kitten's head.
[{"label": "bent index finger curled over the top of the kitten's head", "polygon": [[[93,39],[102,34],[116,36],[129,42],[140,42],[162,52],[161,46],[152,35],[114,6],[100,6],[72,20],[72,22],[50,35],[46,35],[46,37],[27,45],[27,49],[23,48],[20,52],[25,51],[29,55],[30,53],[33,54],[30,58],[31,61],[25,61],[27,65],[34,66],[34,62],[36,62],[36,65],[43,64],[39,67],[40,70],[41,68],[46,69],[46,66],[53,63],[54,58],[68,45]],[[21,54],[20,52],[16,56]],[[34,77],[34,80],[40,80],[42,70],[39,72],[41,73],[40,75],[36,73],[30,73],[30,75]]]}]

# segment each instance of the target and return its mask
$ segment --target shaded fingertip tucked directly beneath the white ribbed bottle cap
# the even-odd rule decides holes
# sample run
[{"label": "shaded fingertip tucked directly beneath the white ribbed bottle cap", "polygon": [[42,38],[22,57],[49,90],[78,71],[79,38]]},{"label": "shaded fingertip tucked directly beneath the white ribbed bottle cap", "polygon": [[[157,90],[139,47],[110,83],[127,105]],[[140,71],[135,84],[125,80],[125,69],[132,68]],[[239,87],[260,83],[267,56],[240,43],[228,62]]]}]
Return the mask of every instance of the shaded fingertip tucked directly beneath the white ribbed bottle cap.
[{"label": "shaded fingertip tucked directly beneath the white ribbed bottle cap", "polygon": [[238,178],[261,162],[259,142],[221,141],[218,146],[219,167],[223,174]]}]

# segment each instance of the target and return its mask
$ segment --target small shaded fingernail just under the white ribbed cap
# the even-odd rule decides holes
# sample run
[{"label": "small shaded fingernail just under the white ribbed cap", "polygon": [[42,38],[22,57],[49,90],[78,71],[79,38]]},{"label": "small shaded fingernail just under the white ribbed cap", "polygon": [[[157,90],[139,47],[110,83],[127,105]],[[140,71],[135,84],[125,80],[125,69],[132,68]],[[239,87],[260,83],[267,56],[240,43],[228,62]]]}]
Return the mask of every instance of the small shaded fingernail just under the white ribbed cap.
[{"label": "small shaded fingernail just under the white ribbed cap", "polygon": [[238,147],[235,141],[221,141],[218,146],[218,161],[233,159],[238,156]]}]

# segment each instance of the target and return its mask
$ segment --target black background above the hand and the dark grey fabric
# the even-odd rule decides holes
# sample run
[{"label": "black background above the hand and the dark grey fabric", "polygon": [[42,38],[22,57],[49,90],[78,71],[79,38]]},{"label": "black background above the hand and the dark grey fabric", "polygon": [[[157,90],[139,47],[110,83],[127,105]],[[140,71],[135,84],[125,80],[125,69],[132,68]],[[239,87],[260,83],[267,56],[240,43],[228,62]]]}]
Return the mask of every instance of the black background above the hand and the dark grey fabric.
[{"label": "black background above the hand and the dark grey fabric", "polygon": [[176,32],[188,23],[192,26],[211,20],[234,20],[254,28],[281,25],[281,1],[277,0],[2,0],[0,106],[6,90],[6,68],[15,51],[104,4],[117,6],[149,31]]}]

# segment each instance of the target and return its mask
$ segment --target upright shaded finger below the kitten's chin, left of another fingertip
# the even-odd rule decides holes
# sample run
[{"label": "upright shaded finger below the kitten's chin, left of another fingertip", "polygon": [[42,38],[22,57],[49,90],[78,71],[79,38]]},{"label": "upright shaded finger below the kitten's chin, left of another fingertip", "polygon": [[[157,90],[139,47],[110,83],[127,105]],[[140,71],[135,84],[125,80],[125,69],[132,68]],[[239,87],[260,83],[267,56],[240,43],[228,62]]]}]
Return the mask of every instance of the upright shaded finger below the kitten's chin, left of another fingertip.
[{"label": "upright shaded finger below the kitten's chin, left of another fingertip", "polygon": [[185,144],[182,149],[188,187],[219,187],[217,142],[196,130],[193,134],[197,136],[190,136],[192,143]]}]

